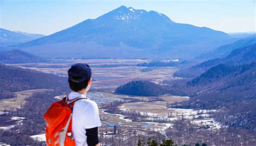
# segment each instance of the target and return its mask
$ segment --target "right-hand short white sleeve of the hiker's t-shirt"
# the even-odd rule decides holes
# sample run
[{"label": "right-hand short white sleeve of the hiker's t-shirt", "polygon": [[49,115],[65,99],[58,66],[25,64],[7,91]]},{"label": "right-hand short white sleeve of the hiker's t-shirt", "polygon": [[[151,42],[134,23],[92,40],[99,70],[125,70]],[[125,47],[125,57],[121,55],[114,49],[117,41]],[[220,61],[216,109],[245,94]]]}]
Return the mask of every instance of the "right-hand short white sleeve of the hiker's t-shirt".
[{"label": "right-hand short white sleeve of the hiker's t-shirt", "polygon": [[98,105],[92,101],[90,104],[87,105],[84,111],[84,128],[90,129],[95,127],[102,126],[99,119],[99,109]]}]

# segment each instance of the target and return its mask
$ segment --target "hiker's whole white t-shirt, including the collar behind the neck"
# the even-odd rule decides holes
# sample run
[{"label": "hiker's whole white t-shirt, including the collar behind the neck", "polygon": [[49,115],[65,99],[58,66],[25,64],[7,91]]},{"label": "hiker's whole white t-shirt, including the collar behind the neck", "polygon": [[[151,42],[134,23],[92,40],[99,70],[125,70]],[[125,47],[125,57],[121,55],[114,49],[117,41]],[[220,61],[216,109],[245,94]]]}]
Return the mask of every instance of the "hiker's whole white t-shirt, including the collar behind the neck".
[{"label": "hiker's whole white t-shirt, including the collar behind the neck", "polygon": [[[78,97],[85,97],[78,92],[71,92],[68,95],[69,100]],[[73,106],[72,115],[72,133],[77,146],[87,146],[86,130],[90,128],[100,127],[102,124],[99,119],[99,109],[95,101],[87,99],[77,100]]]}]

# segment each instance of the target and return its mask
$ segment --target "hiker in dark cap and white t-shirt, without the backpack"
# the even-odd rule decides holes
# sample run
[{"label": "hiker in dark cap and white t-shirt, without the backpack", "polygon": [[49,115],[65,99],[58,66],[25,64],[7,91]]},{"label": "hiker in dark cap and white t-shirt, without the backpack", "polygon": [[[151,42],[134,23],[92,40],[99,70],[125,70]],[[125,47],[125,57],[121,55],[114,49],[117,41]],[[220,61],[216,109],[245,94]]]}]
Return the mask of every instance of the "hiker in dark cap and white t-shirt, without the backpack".
[{"label": "hiker in dark cap and white t-shirt, without the backpack", "polygon": [[[69,100],[86,98],[91,86],[91,68],[87,64],[77,63],[68,71]],[[98,127],[101,126],[98,106],[95,101],[81,99],[73,106],[72,132],[76,145],[99,145]]]}]

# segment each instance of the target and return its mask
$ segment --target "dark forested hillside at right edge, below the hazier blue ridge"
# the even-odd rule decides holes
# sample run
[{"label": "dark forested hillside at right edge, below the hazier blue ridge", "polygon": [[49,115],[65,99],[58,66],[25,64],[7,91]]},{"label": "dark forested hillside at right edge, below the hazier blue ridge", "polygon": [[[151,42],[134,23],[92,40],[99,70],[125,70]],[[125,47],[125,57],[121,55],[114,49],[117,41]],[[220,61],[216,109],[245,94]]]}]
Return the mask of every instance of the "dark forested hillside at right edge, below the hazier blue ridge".
[{"label": "dark forested hillside at right edge, below the hazier blue ridge", "polygon": [[183,89],[191,98],[171,106],[217,109],[213,116],[224,125],[255,130],[255,83],[255,62],[239,66],[219,64],[187,82],[186,87],[174,87],[174,91]]}]

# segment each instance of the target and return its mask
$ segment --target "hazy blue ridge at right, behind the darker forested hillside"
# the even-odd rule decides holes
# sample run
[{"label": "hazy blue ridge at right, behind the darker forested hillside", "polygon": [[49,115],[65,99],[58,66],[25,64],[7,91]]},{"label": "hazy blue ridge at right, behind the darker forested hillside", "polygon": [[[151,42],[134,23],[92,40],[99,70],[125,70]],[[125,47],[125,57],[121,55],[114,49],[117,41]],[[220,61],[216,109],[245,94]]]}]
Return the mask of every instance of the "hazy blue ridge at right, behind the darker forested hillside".
[{"label": "hazy blue ridge at right, behind the darker forested hillside", "polygon": [[[214,65],[242,65],[256,61],[256,35],[217,48],[219,57],[186,67],[177,71],[177,77],[197,77]],[[210,55],[210,54],[209,54]],[[212,55],[213,56],[213,55]],[[188,72],[190,72],[188,74]]]}]

